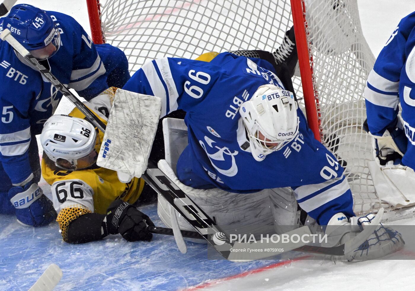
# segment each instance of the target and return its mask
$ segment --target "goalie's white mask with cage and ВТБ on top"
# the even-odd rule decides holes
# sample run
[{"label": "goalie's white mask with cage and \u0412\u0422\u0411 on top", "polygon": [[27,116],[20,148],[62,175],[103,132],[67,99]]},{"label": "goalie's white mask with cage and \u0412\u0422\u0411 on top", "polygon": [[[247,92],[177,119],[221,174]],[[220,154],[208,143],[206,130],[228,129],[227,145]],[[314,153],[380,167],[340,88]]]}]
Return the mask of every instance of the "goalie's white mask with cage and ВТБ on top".
[{"label": "goalie's white mask with cage and \u0412\u0422\u0411 on top", "polygon": [[[298,133],[297,103],[288,90],[267,84],[260,86],[239,110],[257,161],[283,148]],[[262,139],[259,135],[263,135]],[[273,144],[273,145],[269,145]]]}]

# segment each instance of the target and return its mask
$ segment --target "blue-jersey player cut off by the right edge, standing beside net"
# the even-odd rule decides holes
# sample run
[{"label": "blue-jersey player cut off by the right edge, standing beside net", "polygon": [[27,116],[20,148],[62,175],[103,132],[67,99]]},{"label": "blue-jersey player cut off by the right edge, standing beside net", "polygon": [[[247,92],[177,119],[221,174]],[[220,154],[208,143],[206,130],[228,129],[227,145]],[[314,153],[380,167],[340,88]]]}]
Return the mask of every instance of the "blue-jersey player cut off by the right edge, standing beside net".
[{"label": "blue-jersey player cut off by the right edge, standing beside net", "polygon": [[[415,12],[404,17],[376,59],[364,90],[366,130],[381,167],[415,169]],[[399,107],[402,107],[402,122]]]}]

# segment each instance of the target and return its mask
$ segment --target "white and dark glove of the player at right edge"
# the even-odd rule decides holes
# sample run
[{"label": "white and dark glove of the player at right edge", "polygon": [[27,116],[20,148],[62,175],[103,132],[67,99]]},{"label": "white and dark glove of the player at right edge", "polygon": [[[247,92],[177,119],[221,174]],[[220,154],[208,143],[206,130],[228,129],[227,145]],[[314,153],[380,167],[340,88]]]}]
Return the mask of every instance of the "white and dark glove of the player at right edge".
[{"label": "white and dark glove of the player at right edge", "polygon": [[[369,132],[367,119],[364,122],[364,130]],[[369,132],[370,133],[370,132]],[[381,168],[400,167],[401,160],[408,146],[403,125],[397,117],[395,122],[389,125],[382,136],[373,135],[374,157]]]}]

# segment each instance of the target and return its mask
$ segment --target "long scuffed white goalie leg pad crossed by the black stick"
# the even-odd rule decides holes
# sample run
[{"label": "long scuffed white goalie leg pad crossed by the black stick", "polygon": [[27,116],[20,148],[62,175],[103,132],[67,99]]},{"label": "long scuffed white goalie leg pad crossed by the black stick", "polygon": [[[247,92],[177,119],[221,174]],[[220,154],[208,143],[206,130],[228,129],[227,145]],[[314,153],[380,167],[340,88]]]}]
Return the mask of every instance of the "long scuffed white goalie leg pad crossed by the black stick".
[{"label": "long scuffed white goalie leg pad crossed by the black stick", "polygon": [[[219,188],[195,189],[181,183],[166,160],[160,160],[158,166],[190,199],[215,220],[217,225],[255,227],[258,232],[260,232],[259,226],[272,225],[273,218],[267,189],[251,194],[230,193]],[[170,204],[159,195],[157,213],[168,227],[171,227],[170,208]],[[178,215],[178,223],[182,230],[194,230],[180,215]]]}]

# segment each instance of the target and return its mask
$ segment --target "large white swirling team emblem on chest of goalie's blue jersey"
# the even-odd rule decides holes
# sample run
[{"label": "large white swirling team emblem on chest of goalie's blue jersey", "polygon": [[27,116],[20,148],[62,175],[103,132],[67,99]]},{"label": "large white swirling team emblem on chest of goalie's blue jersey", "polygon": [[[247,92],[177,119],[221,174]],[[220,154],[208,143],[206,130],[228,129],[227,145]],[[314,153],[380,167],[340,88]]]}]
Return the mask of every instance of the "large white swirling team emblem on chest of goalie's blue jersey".
[{"label": "large white swirling team emblem on chest of goalie's blue jersey", "polygon": [[[214,148],[212,146],[213,143],[216,143],[214,140],[210,139],[209,137],[205,136],[205,141],[207,142],[207,145],[210,148]],[[205,143],[201,140],[199,140],[200,145],[203,147],[203,149],[205,150],[207,157],[210,160],[210,163],[212,164],[212,166],[222,175],[228,176],[228,177],[233,177],[238,173],[238,167],[236,165],[235,162],[235,158],[234,156],[236,156],[238,154],[238,151],[234,151],[231,152],[227,147],[218,147],[215,146],[216,149],[218,149],[217,152],[213,153],[213,154],[209,154],[209,152],[207,152]],[[229,160],[228,158],[225,159],[225,157],[230,156],[231,157],[231,165],[229,167],[229,169],[220,169],[218,166],[216,166],[214,164],[214,161],[225,161],[225,160]]]}]

